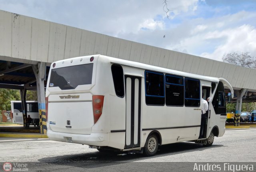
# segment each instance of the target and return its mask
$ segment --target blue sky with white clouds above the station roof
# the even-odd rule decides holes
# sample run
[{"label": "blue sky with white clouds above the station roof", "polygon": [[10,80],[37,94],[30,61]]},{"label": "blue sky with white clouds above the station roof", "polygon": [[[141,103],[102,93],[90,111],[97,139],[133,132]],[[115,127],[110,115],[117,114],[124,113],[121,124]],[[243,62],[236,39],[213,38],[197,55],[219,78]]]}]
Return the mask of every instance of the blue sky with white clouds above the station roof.
[{"label": "blue sky with white clouds above the station roof", "polygon": [[[256,0],[0,0],[0,10],[222,61],[256,56]],[[165,36],[165,37],[164,37]]]}]

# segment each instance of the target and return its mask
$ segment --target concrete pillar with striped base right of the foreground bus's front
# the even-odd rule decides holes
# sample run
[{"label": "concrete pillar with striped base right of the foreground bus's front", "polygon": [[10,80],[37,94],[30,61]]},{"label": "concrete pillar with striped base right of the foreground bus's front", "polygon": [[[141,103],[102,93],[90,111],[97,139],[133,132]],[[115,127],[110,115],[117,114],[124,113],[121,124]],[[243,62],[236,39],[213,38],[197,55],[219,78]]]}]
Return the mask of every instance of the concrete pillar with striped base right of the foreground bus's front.
[{"label": "concrete pillar with striped base right of the foreground bus's front", "polygon": [[246,93],[247,89],[235,90],[237,101],[236,101],[236,113],[234,117],[234,126],[240,125],[240,116],[241,116],[241,108],[242,108],[242,98]]}]

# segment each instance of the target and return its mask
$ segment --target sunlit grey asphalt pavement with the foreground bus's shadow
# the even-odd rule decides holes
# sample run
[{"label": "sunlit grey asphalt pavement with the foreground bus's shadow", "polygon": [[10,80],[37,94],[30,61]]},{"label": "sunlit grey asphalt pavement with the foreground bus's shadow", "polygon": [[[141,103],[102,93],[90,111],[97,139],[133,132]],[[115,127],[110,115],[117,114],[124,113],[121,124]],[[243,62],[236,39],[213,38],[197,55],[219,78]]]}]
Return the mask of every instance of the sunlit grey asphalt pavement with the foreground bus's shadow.
[{"label": "sunlit grey asphalt pavement with the foreground bus's shadow", "polygon": [[211,147],[181,142],[160,146],[156,156],[144,157],[127,152],[101,153],[86,145],[48,138],[0,138],[0,162],[27,164],[29,171],[186,172],[194,171],[195,164],[210,163],[219,165],[221,170],[224,163],[252,164],[255,170],[255,143],[255,128],[229,129],[223,137],[215,137]]}]

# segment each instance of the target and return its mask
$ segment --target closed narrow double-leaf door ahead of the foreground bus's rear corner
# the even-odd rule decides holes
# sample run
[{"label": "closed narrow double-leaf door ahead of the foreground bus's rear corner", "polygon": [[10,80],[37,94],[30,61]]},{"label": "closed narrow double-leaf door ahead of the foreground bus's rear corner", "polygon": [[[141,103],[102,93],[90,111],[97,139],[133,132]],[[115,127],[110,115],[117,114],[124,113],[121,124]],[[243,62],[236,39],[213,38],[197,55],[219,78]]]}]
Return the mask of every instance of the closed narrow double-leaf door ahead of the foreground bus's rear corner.
[{"label": "closed narrow double-leaf door ahead of the foreground bus's rear corner", "polygon": [[141,77],[125,75],[125,148],[140,147]]}]

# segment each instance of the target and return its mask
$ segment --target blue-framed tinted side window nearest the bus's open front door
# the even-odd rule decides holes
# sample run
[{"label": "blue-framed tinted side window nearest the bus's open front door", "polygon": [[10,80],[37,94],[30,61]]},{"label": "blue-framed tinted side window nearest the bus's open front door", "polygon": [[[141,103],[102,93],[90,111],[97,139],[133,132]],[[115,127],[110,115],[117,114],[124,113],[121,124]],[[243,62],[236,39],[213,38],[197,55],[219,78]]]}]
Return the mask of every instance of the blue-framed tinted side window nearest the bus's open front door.
[{"label": "blue-framed tinted side window nearest the bus's open front door", "polygon": [[200,106],[200,81],[185,78],[185,106]]}]

